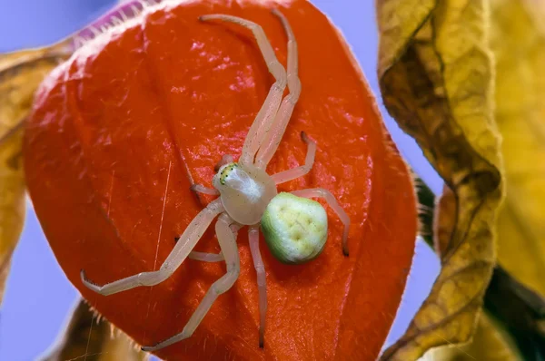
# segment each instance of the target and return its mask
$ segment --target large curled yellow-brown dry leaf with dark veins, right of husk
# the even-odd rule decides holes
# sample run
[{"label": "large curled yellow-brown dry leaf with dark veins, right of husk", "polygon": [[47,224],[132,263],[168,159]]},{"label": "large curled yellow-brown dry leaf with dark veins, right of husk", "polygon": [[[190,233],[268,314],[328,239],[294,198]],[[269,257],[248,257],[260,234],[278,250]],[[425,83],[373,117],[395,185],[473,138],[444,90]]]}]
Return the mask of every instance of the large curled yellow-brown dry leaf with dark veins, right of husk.
[{"label": "large curled yellow-brown dry leaf with dark veins, right of husk", "polygon": [[383,101],[448,188],[438,222],[441,274],[410,327],[382,360],[415,360],[467,342],[494,265],[502,198],[492,65],[483,0],[379,0]]}]

